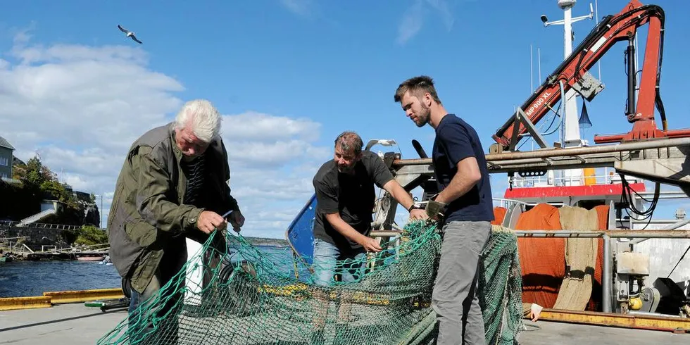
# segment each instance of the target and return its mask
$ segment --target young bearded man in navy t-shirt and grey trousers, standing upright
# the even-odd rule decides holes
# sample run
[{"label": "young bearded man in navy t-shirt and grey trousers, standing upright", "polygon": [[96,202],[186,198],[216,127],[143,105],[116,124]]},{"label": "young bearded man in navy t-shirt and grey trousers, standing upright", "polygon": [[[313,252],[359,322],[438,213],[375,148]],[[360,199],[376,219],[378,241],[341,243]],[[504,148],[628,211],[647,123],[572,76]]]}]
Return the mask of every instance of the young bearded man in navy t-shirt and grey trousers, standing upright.
[{"label": "young bearded man in navy t-shirt and grey trousers, standing upright", "polygon": [[[484,344],[484,318],[475,293],[482,253],[494,220],[482,142],[472,126],[444,109],[430,77],[402,82],[395,93],[417,127],[436,130],[432,162],[442,211],[441,262],[432,307],[439,320],[437,344]],[[465,317],[463,318],[463,315]]]}]

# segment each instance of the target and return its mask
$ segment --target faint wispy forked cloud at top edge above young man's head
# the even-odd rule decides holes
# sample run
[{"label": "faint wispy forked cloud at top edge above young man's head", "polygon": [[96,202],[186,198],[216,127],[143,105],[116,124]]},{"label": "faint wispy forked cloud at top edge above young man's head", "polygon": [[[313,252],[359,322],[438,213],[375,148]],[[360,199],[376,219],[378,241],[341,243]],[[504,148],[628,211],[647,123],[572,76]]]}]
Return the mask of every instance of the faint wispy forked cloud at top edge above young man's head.
[{"label": "faint wispy forked cloud at top edge above young man's head", "polygon": [[398,24],[398,37],[396,41],[399,44],[405,44],[422,30],[429,10],[427,6],[431,7],[441,17],[446,30],[451,30],[454,19],[446,0],[414,0],[413,4],[403,13],[403,17]]}]

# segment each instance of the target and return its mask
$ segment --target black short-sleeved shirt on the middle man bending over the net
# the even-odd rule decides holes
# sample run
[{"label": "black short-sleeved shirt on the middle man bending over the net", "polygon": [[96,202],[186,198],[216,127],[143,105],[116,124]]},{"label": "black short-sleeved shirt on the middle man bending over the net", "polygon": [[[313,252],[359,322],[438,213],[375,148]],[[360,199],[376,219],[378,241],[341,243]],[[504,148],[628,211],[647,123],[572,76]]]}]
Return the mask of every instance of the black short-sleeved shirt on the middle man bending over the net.
[{"label": "black short-sleeved shirt on the middle man bending over the net", "polygon": [[321,165],[313,179],[316,192],[314,238],[334,244],[341,251],[352,251],[362,246],[335,230],[325,215],[338,212],[360,234],[368,235],[376,199],[374,184],[382,188],[393,180],[393,174],[376,153],[362,153],[354,175],[338,172],[338,165],[331,160]]}]

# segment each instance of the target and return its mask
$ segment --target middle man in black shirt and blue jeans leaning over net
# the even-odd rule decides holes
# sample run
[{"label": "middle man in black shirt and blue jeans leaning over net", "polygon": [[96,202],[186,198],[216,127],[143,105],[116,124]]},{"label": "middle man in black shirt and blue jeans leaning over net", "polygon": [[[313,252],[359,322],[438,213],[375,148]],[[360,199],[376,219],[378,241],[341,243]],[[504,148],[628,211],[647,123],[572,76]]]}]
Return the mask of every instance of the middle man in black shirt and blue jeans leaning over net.
[{"label": "middle man in black shirt and blue jeans leaning over net", "polygon": [[374,185],[385,189],[410,212],[410,219],[426,219],[426,212],[393,179],[383,160],[362,151],[355,132],[343,132],[335,139],[335,153],[313,179],[316,192],[314,222],[314,268],[317,284],[328,285],[336,272],[343,282],[355,280],[361,267],[337,268],[337,262],[353,259],[361,263],[367,251],[381,251],[369,237],[376,194]]}]

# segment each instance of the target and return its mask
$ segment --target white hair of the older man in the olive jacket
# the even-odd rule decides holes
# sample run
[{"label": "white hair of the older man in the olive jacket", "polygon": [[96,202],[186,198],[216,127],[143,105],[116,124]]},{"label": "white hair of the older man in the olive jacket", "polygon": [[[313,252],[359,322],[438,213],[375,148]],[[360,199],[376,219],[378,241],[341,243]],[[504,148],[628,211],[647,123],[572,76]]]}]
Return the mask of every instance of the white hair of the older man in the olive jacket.
[{"label": "white hair of the older man in the olive jacket", "polygon": [[211,142],[220,135],[220,113],[206,99],[194,99],[184,103],[175,116],[175,128],[189,127],[202,142]]}]

